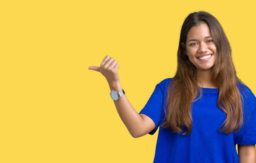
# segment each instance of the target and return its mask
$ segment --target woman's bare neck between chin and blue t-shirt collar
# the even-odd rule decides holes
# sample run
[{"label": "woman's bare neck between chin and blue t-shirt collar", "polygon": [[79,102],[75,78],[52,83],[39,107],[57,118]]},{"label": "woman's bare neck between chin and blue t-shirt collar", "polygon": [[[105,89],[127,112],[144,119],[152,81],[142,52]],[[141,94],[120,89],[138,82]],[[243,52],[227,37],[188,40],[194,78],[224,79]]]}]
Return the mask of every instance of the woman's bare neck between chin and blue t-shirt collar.
[{"label": "woman's bare neck between chin and blue t-shirt collar", "polygon": [[201,82],[199,86],[203,88],[217,88],[211,80],[212,69],[208,70],[196,70],[196,77]]}]

